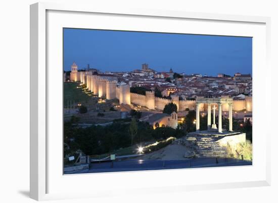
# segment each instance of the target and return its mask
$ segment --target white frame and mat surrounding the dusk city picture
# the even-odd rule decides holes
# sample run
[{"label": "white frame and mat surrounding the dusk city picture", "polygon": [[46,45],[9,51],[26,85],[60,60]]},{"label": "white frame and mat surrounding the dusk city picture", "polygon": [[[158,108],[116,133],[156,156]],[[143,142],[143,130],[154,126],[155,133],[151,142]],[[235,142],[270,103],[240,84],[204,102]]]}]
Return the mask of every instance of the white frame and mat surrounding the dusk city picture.
[{"label": "white frame and mat surrounding the dusk city picture", "polygon": [[[49,12],[49,13],[48,13]],[[60,12],[60,13],[59,13]],[[256,49],[253,53],[253,77],[254,77],[254,101],[253,101],[253,130],[255,129],[258,134],[262,134],[264,137],[260,142],[257,142],[256,135],[254,136],[254,160],[253,166],[251,167],[229,167],[229,168],[206,168],[206,169],[188,169],[188,170],[165,170],[165,171],[148,171],[148,172],[124,172],[124,173],[102,173],[102,174],[87,174],[87,175],[71,175],[71,176],[63,176],[61,165],[62,165],[62,145],[61,143],[61,133],[58,133],[58,144],[54,144],[54,139],[50,138],[50,134],[53,130],[57,130],[57,132],[61,132],[61,127],[51,127],[52,121],[50,121],[50,116],[53,115],[51,111],[61,112],[62,116],[62,105],[58,105],[57,108],[53,107],[53,103],[50,98],[53,98],[55,94],[59,95],[59,91],[61,88],[57,88],[57,92],[52,91],[54,86],[62,86],[62,67],[61,69],[48,69],[48,66],[52,64],[52,52],[48,52],[47,50],[54,49],[48,43],[51,40],[56,40],[56,38],[48,38],[52,37],[53,33],[56,32],[59,37],[57,38],[57,46],[58,50],[61,50],[61,38],[60,32],[54,30],[51,26],[65,26],[70,25],[74,27],[80,28],[89,28],[89,22],[80,21],[81,19],[88,18],[89,15],[92,15],[94,18],[94,14],[98,14],[100,18],[102,16],[106,20],[111,20],[112,18],[119,20],[119,18],[132,18],[134,20],[134,26],[136,26],[135,22],[143,22],[144,19],[148,19],[148,21],[157,21],[157,20],[172,20],[175,21],[183,21],[183,20],[191,20],[197,23],[200,21],[211,22],[211,26],[219,26],[213,25],[213,23],[220,23],[223,27],[225,24],[229,24],[228,27],[240,26],[242,27],[242,32],[239,31],[239,28],[234,31],[222,30],[219,31],[217,29],[210,30],[210,34],[218,34],[218,35],[239,35],[241,33],[243,36],[255,36],[255,40],[253,42],[253,49],[261,47],[262,50]],[[71,22],[67,22],[70,20],[71,16],[74,15],[74,19],[71,19]],[[58,17],[59,19],[58,19]],[[63,17],[64,16],[64,17]],[[55,19],[56,18],[56,19]],[[143,19],[144,18],[144,19]],[[55,23],[53,21],[55,19]],[[106,22],[103,19],[103,22]],[[62,22],[63,21],[63,22]],[[78,23],[80,22],[80,25]],[[81,24],[82,22],[82,24]],[[60,23],[60,24],[59,24]],[[64,24],[63,24],[64,23]],[[106,22],[109,24],[108,21]],[[217,24],[216,23],[216,24]],[[116,23],[115,23],[116,24]],[[138,24],[138,23],[137,23]],[[174,23],[173,23],[174,24]],[[151,24],[150,24],[151,25]],[[246,25],[250,25],[250,29],[244,28]],[[101,25],[100,25],[101,26]],[[110,25],[112,26],[112,25]],[[116,29],[117,25],[114,29]],[[123,25],[124,26],[124,25]],[[126,24],[126,26],[131,26],[130,23]],[[137,25],[138,26],[138,25]],[[148,24],[146,24],[146,27]],[[173,25],[172,29],[175,25]],[[192,25],[193,26],[193,25]],[[254,30],[252,28],[254,27]],[[190,27],[190,24],[189,24]],[[194,28],[194,27],[193,27]],[[204,27],[195,26],[196,30],[191,33],[205,33],[202,31]],[[251,29],[252,28],[252,29]],[[124,27],[117,29],[125,29]],[[142,30],[140,26],[137,28],[131,28],[132,30]],[[146,28],[148,29],[148,28]],[[155,29],[155,28],[154,28]],[[159,29],[157,27],[156,29]],[[163,28],[164,29],[164,28]],[[166,28],[165,28],[166,29]],[[246,32],[244,32],[244,30]],[[59,28],[60,30],[60,28]],[[61,31],[61,30],[60,30]],[[183,31],[181,31],[183,32]],[[248,34],[249,33],[249,34]],[[256,38],[257,37],[257,38]],[[47,43],[47,39],[50,41]],[[60,41],[59,41],[60,40]],[[259,44],[258,44],[259,43]],[[260,45],[260,46],[258,46]],[[270,80],[262,76],[263,72],[270,73],[269,66],[269,51],[270,51],[270,18],[268,17],[257,17],[257,16],[238,16],[238,15],[223,15],[223,14],[209,14],[209,13],[190,13],[183,11],[161,11],[161,10],[148,10],[148,9],[130,9],[130,8],[101,8],[94,7],[94,5],[81,5],[81,4],[55,4],[55,3],[36,3],[30,6],[30,197],[36,200],[47,200],[47,199],[63,199],[63,198],[79,198],[79,197],[102,197],[107,195],[115,195],[115,194],[124,194],[124,192],[120,192],[117,188],[125,189],[125,191],[129,191],[129,193],[135,193],[135,190],[140,190],[141,192],[150,192],[150,188],[152,188],[151,192],[171,192],[171,191],[190,191],[190,190],[202,190],[206,188],[210,189],[218,189],[218,188],[237,188],[237,187],[253,187],[253,186],[268,186],[270,185],[270,129],[268,123],[265,124],[265,131],[262,132],[259,126],[256,127],[256,123],[260,122],[259,115],[262,113],[271,112],[271,106],[266,102],[265,99],[261,97],[256,97],[258,92],[263,92],[264,94],[269,93]],[[60,47],[60,48],[59,48]],[[51,53],[51,54],[49,54]],[[58,56],[57,56],[58,57]],[[59,60],[59,59],[58,59]],[[62,61],[62,59],[60,59]],[[55,60],[53,60],[55,61]],[[60,64],[57,63],[57,64]],[[264,68],[259,68],[260,66],[264,66]],[[53,74],[55,71],[58,71],[57,74]],[[60,73],[61,75],[60,75]],[[54,76],[55,75],[55,76]],[[259,75],[261,77],[259,77]],[[51,77],[51,84],[50,84]],[[61,80],[60,80],[61,79]],[[259,84],[261,84],[259,86]],[[54,93],[55,92],[55,93]],[[54,95],[52,95],[54,94]],[[258,94],[257,94],[258,95]],[[60,100],[59,100],[60,101]],[[58,102],[59,103],[59,102]],[[262,106],[261,108],[258,108]],[[57,111],[58,110],[58,111]],[[58,117],[59,117],[58,116]],[[257,116],[257,117],[256,117]],[[269,116],[270,117],[270,116]],[[59,123],[59,122],[58,122]],[[60,123],[61,124],[61,123]],[[58,125],[58,124],[57,124]],[[60,129],[61,128],[61,129]],[[53,147],[51,152],[48,147]],[[60,147],[60,149],[59,149]],[[61,150],[61,151],[59,151]],[[56,153],[57,158],[53,158],[53,154]],[[257,158],[257,157],[258,158]],[[257,158],[257,160],[256,160]],[[55,160],[54,160],[55,159]],[[55,162],[57,161],[57,162]],[[57,165],[56,163],[61,161],[61,164]],[[57,176],[54,174],[57,172],[57,176],[59,176],[59,180]],[[204,173],[220,173],[220,177],[204,178],[203,180],[198,180],[194,183],[194,180],[188,180],[188,183],[182,182],[182,178],[180,180],[169,181],[167,177],[173,176],[176,174],[179,176],[182,173],[194,173],[194,171],[201,171]],[[244,171],[243,173],[250,174],[250,176],[244,178],[238,177],[235,178],[233,173],[238,174]],[[174,172],[174,173],[173,173]],[[223,174],[221,174],[223,173]],[[224,173],[230,173],[230,179],[223,179],[222,181],[216,180],[217,178],[221,178],[221,175]],[[254,173],[258,176],[253,177]],[[59,175],[60,174],[60,175]],[[252,176],[253,174],[253,176]],[[61,177],[60,177],[61,176]],[[74,186],[74,192],[67,190],[67,187],[63,187],[62,182],[64,184],[73,183],[73,185],[85,182],[94,176],[95,180],[102,180],[110,178],[113,181],[122,182],[116,185],[104,186],[101,182],[94,187],[94,192],[90,190],[84,190],[82,187]],[[159,181],[159,177],[165,177],[164,181]],[[241,176],[239,174],[239,176]],[[55,178],[56,177],[56,178]],[[140,182],[140,179],[144,179],[146,177],[152,177],[156,184],[150,183],[148,187],[145,187],[143,182]],[[225,176],[224,176],[225,177]],[[253,177],[253,178],[252,178]],[[128,185],[128,187],[124,184],[127,183],[128,179],[138,180],[133,185]],[[55,180],[54,180],[55,179]],[[59,182],[61,179],[62,182]],[[235,179],[235,181],[231,181]],[[213,180],[213,181],[212,181]],[[192,182],[193,181],[193,182]],[[61,184],[60,184],[61,183]],[[57,188],[54,188],[54,184]],[[135,185],[136,184],[136,185]],[[63,188],[63,189],[58,189]],[[54,189],[52,189],[54,188]]]}]

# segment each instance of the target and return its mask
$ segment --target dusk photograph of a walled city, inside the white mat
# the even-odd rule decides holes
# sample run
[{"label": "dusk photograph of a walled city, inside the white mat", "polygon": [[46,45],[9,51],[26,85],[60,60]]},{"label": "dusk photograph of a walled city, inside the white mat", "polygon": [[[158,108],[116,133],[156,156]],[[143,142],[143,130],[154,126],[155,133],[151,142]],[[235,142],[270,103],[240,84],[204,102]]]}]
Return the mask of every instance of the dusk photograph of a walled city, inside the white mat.
[{"label": "dusk photograph of a walled city, inside the white mat", "polygon": [[61,71],[64,175],[252,166],[252,37],[64,27]]}]

